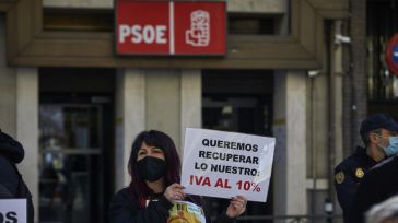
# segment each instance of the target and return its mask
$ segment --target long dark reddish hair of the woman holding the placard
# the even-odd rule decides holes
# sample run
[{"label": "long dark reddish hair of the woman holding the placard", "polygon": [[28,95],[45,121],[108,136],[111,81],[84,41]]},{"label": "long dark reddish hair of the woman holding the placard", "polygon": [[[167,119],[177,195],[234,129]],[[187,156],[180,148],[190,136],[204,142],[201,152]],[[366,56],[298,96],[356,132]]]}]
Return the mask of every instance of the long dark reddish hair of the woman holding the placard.
[{"label": "long dark reddish hair of the woman holding the placard", "polygon": [[137,156],[138,151],[141,149],[142,142],[163,150],[166,161],[166,174],[164,176],[165,188],[174,183],[179,183],[182,168],[176,146],[171,137],[156,130],[143,131],[139,133],[131,146],[128,171],[131,176],[129,189],[133,199],[139,202],[141,208],[144,207],[148,196],[153,192],[147,186],[145,180],[139,175],[138,172]]}]

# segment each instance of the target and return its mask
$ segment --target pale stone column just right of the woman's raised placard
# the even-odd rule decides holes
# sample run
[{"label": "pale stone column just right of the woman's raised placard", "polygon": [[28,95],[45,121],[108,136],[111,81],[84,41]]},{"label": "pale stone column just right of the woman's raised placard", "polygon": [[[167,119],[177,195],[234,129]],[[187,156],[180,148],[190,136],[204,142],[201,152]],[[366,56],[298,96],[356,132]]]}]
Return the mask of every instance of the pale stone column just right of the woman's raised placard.
[{"label": "pale stone column just right of the woman's raised placard", "polygon": [[277,71],[274,77],[274,214],[306,214],[306,75]]}]

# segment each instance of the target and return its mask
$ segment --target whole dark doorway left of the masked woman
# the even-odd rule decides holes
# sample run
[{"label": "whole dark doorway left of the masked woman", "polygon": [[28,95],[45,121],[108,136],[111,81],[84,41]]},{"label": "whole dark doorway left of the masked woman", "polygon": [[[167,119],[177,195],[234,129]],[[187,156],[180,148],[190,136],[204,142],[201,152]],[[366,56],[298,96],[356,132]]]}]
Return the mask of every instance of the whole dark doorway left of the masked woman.
[{"label": "whole dark doorway left of the masked woman", "polygon": [[39,222],[107,222],[114,187],[113,74],[40,70]]}]

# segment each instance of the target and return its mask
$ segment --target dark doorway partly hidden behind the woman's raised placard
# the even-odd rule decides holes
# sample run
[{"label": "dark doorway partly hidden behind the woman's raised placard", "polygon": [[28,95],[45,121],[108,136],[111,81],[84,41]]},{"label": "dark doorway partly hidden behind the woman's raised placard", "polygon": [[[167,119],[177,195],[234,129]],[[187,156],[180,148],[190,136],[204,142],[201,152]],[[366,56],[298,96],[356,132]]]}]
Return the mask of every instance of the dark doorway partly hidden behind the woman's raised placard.
[{"label": "dark doorway partly hidden behind the woman's raised placard", "polygon": [[[203,128],[272,136],[273,71],[206,70],[202,73],[202,83]],[[227,199],[206,200],[212,216],[216,216],[229,206]],[[272,200],[271,178],[267,202],[248,202],[246,214],[272,215]]]}]

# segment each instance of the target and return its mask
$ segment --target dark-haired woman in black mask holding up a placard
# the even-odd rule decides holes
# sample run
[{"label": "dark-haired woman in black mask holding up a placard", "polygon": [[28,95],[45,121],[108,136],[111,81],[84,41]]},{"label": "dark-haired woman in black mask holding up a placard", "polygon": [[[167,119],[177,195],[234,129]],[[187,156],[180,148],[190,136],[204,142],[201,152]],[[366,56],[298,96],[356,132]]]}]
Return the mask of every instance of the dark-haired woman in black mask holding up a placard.
[{"label": "dark-haired woman in black mask holding up a placard", "polygon": [[[109,207],[112,223],[206,223],[200,197],[188,196],[180,186],[180,161],[173,140],[151,130],[134,140],[128,171],[130,186],[118,191]],[[233,197],[215,222],[233,222],[246,210],[246,199]]]}]

